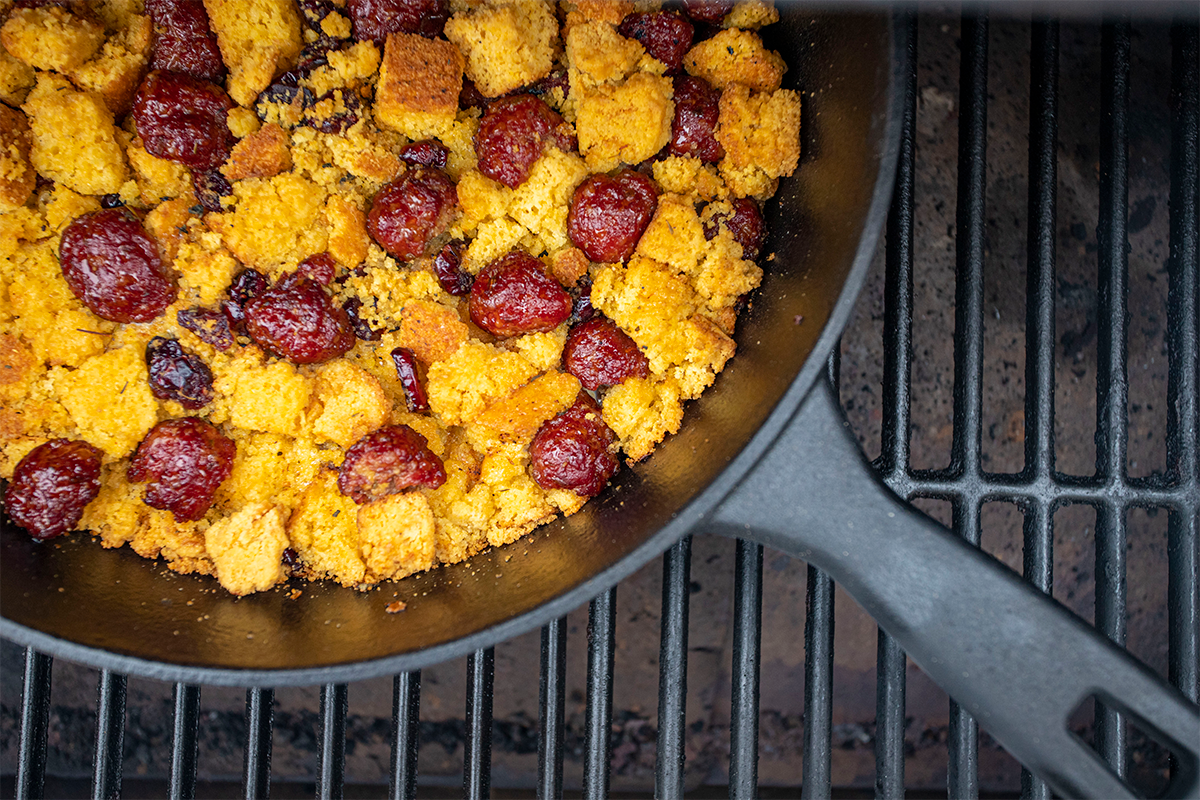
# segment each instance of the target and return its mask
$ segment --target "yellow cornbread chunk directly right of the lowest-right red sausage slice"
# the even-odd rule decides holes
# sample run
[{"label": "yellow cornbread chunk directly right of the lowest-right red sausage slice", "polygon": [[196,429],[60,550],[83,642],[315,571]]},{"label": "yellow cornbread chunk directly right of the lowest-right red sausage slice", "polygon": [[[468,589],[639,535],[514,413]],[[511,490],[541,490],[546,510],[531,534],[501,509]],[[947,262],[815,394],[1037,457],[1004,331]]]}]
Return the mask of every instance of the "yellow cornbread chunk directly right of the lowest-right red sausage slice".
[{"label": "yellow cornbread chunk directly right of the lowest-right red sausage slice", "polygon": [[679,429],[679,386],[671,378],[628,378],[605,393],[604,421],[617,434],[629,463],[636,463]]}]

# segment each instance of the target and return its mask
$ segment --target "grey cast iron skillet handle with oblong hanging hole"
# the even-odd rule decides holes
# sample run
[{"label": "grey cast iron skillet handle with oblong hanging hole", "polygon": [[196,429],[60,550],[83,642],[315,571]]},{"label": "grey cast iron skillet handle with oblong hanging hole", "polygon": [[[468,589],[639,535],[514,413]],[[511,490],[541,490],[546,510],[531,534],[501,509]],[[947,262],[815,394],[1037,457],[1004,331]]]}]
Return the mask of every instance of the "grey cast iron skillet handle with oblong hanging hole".
[{"label": "grey cast iron skillet handle with oblong hanging hole", "polygon": [[826,570],[1060,795],[1139,794],[1067,728],[1090,696],[1170,750],[1169,800],[1200,800],[1200,709],[997,560],[893,495],[827,381],[721,503],[710,530]]}]

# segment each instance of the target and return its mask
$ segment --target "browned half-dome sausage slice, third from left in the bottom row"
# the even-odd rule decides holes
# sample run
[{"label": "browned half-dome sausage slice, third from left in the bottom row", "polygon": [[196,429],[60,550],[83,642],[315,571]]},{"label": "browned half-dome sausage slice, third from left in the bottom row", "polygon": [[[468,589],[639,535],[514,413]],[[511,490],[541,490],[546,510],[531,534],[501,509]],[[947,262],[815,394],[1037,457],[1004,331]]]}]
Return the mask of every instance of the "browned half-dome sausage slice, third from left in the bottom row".
[{"label": "browned half-dome sausage slice, third from left in the bottom row", "polygon": [[371,503],[414,486],[436,489],[446,481],[442,459],[407,425],[389,425],[346,451],[337,488],[355,503]]}]

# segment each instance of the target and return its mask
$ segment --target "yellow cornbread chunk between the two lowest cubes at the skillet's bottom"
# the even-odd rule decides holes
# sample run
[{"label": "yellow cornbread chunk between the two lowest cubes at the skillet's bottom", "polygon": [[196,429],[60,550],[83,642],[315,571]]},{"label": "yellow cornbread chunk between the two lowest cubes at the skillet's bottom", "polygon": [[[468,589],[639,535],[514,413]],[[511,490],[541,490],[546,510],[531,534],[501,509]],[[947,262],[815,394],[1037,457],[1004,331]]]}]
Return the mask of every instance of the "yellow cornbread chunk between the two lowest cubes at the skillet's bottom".
[{"label": "yellow cornbread chunk between the two lowest cubes at the skillet's bottom", "polygon": [[337,491],[337,473],[320,470],[287,524],[288,539],[312,577],[329,577],[343,587],[364,583],[356,517],[354,500]]}]

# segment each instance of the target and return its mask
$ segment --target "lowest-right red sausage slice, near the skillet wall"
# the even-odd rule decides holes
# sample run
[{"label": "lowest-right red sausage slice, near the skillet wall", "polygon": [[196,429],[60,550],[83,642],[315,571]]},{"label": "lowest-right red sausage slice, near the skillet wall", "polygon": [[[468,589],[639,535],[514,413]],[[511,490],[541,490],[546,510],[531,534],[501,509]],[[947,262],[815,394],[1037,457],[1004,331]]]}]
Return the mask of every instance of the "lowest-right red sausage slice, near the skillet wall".
[{"label": "lowest-right red sausage slice, near the skillet wall", "polygon": [[617,471],[611,452],[616,439],[595,401],[580,392],[575,405],[538,428],[529,445],[529,473],[544,489],[594,497]]}]

